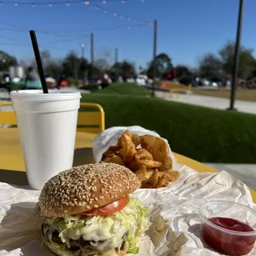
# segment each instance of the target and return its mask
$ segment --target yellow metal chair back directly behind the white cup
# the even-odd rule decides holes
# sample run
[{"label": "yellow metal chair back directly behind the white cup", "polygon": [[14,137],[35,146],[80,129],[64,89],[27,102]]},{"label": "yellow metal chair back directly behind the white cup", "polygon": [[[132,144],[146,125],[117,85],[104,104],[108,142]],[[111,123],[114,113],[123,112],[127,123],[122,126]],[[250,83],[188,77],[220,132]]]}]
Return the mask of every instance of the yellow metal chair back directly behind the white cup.
[{"label": "yellow metal chair back directly behind the white cup", "polygon": [[[17,126],[14,111],[1,111],[2,107],[11,105],[11,102],[0,103],[0,125]],[[102,106],[96,103],[81,103],[80,110],[82,108],[90,111],[78,112],[78,131],[98,134],[105,130],[105,113]],[[92,109],[97,111],[91,111]]]}]

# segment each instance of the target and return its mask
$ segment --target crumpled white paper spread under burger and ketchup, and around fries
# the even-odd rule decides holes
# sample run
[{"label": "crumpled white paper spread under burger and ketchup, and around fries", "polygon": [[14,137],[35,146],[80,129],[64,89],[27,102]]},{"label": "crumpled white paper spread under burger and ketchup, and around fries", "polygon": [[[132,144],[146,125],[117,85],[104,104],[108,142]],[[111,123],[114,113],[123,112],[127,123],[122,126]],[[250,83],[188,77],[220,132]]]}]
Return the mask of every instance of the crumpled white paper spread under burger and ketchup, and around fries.
[{"label": "crumpled white paper spread under burger and ketchup, and around fries", "polygon": [[[105,135],[99,134],[94,139],[97,162],[109,146],[115,145],[126,129],[127,127],[114,127],[107,130],[108,136],[105,132]],[[129,127],[129,130],[136,134],[159,136],[138,126]],[[240,202],[256,210],[250,190],[225,171],[198,174],[187,166],[178,165],[171,150],[170,156],[176,165],[175,169],[180,171],[178,180],[166,188],[136,190],[132,194],[150,208],[148,229],[137,255],[219,255],[203,242],[198,207],[204,202],[226,200]],[[0,183],[0,256],[54,255],[46,246],[42,246],[43,219],[32,216],[38,196],[38,191]],[[237,213],[232,214],[235,218]],[[249,255],[256,255],[256,246]]]}]

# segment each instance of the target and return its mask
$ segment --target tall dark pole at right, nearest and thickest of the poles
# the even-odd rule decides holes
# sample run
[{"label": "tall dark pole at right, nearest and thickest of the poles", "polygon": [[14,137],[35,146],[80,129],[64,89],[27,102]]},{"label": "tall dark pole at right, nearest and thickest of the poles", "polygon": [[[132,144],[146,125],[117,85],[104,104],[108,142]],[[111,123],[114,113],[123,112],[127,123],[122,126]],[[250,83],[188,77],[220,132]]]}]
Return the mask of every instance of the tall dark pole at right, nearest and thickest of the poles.
[{"label": "tall dark pole at right, nearest and thickest of the poles", "polygon": [[235,99],[235,91],[237,89],[237,79],[238,79],[238,69],[239,69],[239,54],[240,54],[240,44],[241,44],[241,34],[242,34],[243,6],[244,6],[244,0],[240,0],[239,12],[238,12],[237,39],[236,39],[235,51],[234,51],[234,68],[233,68],[233,74],[232,74],[230,107],[227,110],[235,110],[234,99]]}]

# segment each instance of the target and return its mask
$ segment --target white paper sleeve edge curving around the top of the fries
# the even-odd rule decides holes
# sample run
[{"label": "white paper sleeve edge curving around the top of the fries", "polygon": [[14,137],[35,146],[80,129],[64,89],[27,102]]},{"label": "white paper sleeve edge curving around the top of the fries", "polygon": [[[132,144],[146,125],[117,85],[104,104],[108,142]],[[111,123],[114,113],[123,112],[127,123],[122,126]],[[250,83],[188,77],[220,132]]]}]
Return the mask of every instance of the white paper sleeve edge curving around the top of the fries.
[{"label": "white paper sleeve edge curving around the top of the fries", "polygon": [[[141,126],[129,126],[129,127],[124,127],[124,126],[115,126],[111,127],[109,129],[106,129],[102,131],[102,133],[98,134],[93,141],[93,150],[94,150],[94,160],[95,162],[100,162],[102,159],[102,154],[110,148],[110,146],[116,146],[118,142],[118,138],[122,136],[122,134],[126,131],[129,130],[131,134],[138,134],[139,136],[142,135],[154,135],[155,137],[161,138],[159,134],[152,130],[146,130],[142,128]],[[174,158],[174,154],[170,149],[170,145],[167,142],[165,138],[162,138],[166,144],[169,147],[169,154],[170,158],[173,160],[173,169],[178,170],[179,166]]]}]

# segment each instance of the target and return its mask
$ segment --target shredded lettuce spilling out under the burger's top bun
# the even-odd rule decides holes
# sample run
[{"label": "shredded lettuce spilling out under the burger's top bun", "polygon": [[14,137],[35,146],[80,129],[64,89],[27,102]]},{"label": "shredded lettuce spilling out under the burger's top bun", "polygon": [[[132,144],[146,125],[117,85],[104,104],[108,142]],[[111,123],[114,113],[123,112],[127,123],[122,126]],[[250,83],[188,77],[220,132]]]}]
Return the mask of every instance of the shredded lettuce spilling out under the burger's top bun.
[{"label": "shredded lettuce spilling out under the burger's top bun", "polygon": [[[106,248],[120,248],[123,241],[129,244],[128,253],[138,254],[138,237],[146,230],[147,214],[148,209],[142,205],[142,202],[130,198],[129,204],[124,209],[110,216],[76,215],[47,219],[46,222],[50,225],[50,232],[47,234],[49,234],[49,240],[53,247],[59,246],[51,239],[54,230],[58,230],[59,238],[61,238],[63,245],[66,243],[68,248],[70,247],[70,239],[83,238],[85,241],[94,241],[98,251],[92,252],[92,250],[81,249],[82,254],[80,252],[79,255],[83,256],[90,256],[92,253],[108,256],[109,254],[102,251]],[[65,248],[59,247],[58,250],[65,250]],[[75,256],[77,253],[70,255]]]}]

